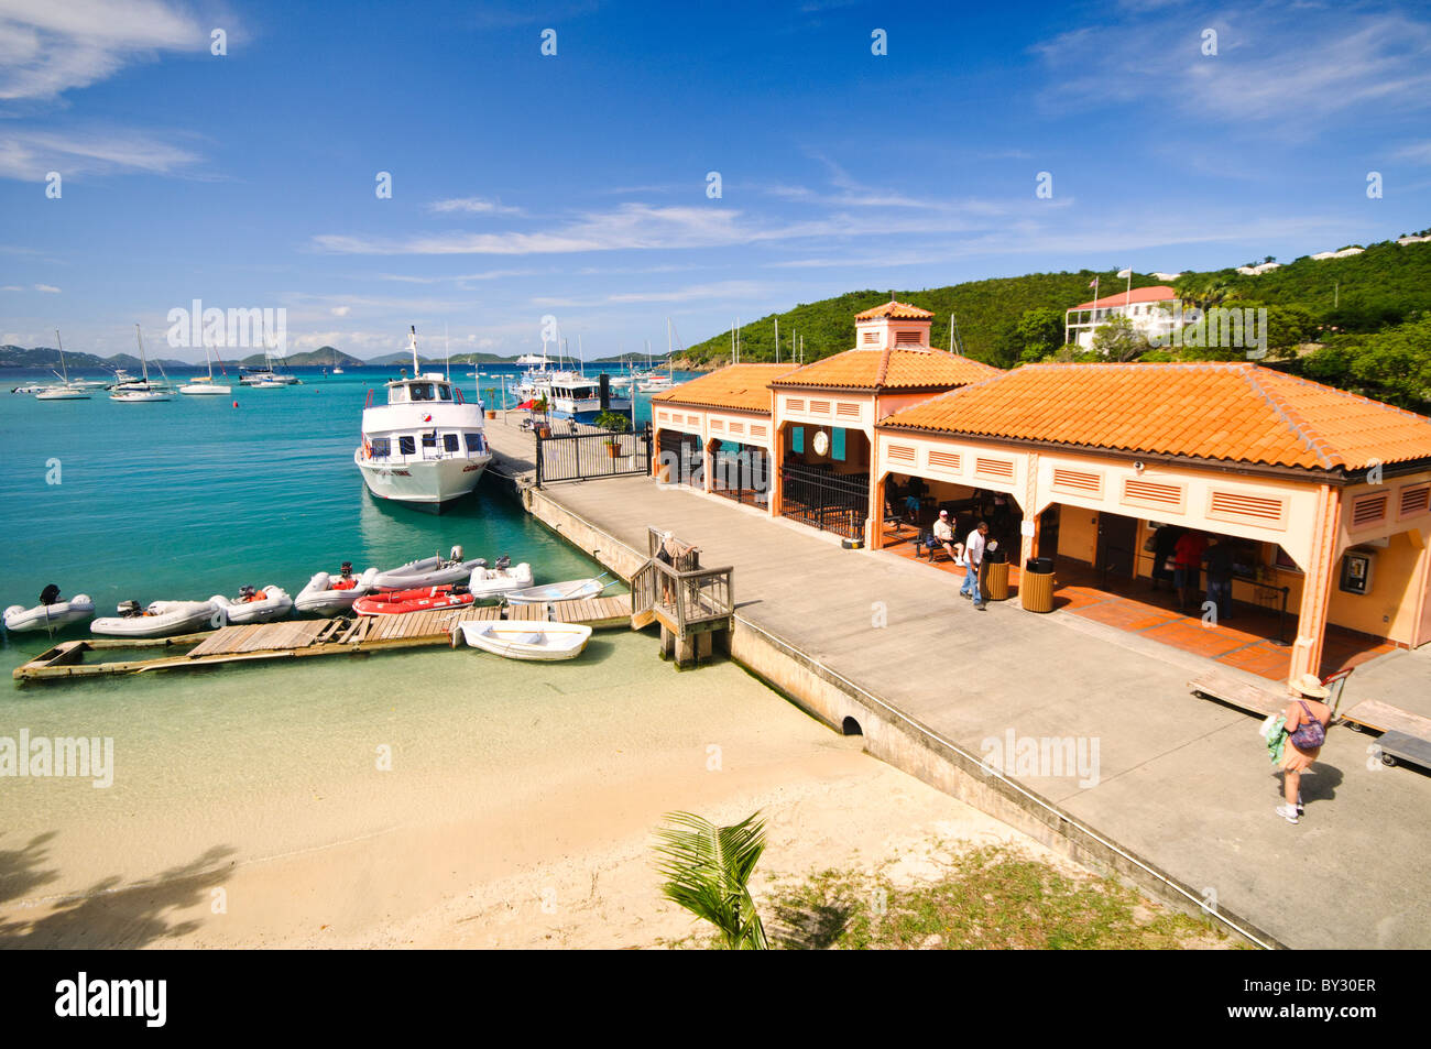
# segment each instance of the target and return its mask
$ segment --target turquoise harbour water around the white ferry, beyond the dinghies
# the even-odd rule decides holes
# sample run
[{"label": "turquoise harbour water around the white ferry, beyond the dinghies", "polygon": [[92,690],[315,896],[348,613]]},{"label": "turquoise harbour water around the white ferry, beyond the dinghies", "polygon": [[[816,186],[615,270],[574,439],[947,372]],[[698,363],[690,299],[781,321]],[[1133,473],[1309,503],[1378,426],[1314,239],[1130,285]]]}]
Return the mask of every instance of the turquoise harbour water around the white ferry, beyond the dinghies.
[{"label": "turquoise harbour water around the white ferry, beyond the dinghies", "polygon": [[[484,392],[499,385],[468,371],[454,376],[469,398],[479,384]],[[495,479],[441,515],[373,499],[352,451],[366,394],[376,388],[382,398],[386,369],[295,372],[303,385],[233,382],[230,396],[156,404],[116,404],[104,391],[90,401],[36,401],[9,391],[46,374],[0,374],[0,447],[9,452],[0,604],[30,607],[49,582],[66,597],[89,594],[100,615],[129,598],[203,600],[245,584],[296,595],[313,572],[342,561],[392,568],[455,544],[467,557],[529,561],[537,582],[598,574]],[[637,418],[650,418],[647,395],[638,395]],[[76,627],[66,637],[86,634]],[[3,644],[10,670],[47,638],[6,635]]]}]

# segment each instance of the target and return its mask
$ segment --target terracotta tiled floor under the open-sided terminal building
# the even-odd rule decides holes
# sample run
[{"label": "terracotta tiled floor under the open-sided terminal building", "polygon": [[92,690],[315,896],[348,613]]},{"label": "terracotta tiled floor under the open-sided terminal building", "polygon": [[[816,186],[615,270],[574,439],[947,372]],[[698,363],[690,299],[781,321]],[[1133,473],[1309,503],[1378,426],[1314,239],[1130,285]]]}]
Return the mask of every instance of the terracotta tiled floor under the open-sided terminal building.
[{"label": "terracotta tiled floor under the open-sided terminal building", "polygon": [[[913,558],[914,535],[916,531],[909,525],[886,528],[884,550]],[[929,560],[924,558],[924,562],[929,564]],[[950,564],[943,554],[933,567],[960,577],[964,574],[963,568]],[[1017,600],[1017,587],[1019,568],[1009,565],[1010,600]],[[1178,611],[1173,595],[1166,590],[1151,590],[1146,580],[1100,585],[1092,570],[1066,562],[1058,567],[1053,607],[1274,681],[1286,677],[1291,663],[1289,643],[1296,634],[1295,611],[1286,615],[1285,643],[1278,638],[1278,614],[1265,608],[1238,604],[1231,618],[1209,627],[1202,623],[1201,615],[1185,615]],[[1321,674],[1327,677],[1338,670],[1355,667],[1394,648],[1395,645],[1365,634],[1328,627],[1322,645]]]}]

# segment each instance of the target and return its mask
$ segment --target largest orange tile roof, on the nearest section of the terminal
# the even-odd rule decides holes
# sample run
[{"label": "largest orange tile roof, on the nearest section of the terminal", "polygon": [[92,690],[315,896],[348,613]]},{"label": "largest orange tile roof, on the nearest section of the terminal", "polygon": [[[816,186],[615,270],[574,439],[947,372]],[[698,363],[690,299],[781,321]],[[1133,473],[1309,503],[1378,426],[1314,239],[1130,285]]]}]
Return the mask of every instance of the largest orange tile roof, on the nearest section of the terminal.
[{"label": "largest orange tile roof, on the nearest section of the terminal", "polygon": [[1308,469],[1431,458],[1431,419],[1249,362],[1026,365],[880,425]]}]

